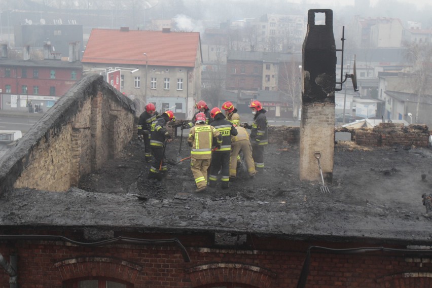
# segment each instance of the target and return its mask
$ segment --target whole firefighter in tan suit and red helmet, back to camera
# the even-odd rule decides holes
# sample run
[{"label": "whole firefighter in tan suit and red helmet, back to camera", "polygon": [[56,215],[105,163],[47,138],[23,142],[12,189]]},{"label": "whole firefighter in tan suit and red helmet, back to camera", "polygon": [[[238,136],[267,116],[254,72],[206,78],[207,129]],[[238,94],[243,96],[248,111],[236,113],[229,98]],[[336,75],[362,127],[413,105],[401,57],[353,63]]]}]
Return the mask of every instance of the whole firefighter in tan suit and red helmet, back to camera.
[{"label": "whole firefighter in tan suit and red helmet, back to camera", "polygon": [[215,147],[220,148],[222,135],[214,127],[205,124],[205,114],[195,116],[195,126],[189,131],[188,144],[191,150],[191,170],[197,189],[202,192],[207,189],[207,169],[211,161],[212,139],[216,138]]}]

